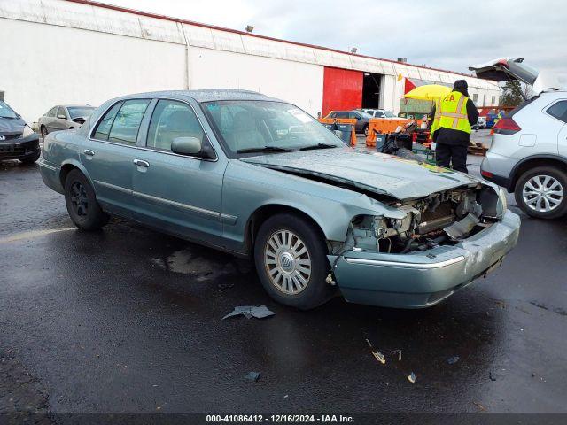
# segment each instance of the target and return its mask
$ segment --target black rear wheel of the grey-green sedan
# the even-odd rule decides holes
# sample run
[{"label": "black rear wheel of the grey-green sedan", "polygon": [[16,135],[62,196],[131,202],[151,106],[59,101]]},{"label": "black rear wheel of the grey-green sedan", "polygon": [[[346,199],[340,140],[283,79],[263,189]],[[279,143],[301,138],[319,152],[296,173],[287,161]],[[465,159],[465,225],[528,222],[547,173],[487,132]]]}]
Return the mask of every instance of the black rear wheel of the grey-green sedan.
[{"label": "black rear wheel of the grey-green sedan", "polygon": [[77,228],[97,230],[108,222],[108,214],[98,205],[95,190],[79,170],[73,170],[66,176],[65,204]]}]

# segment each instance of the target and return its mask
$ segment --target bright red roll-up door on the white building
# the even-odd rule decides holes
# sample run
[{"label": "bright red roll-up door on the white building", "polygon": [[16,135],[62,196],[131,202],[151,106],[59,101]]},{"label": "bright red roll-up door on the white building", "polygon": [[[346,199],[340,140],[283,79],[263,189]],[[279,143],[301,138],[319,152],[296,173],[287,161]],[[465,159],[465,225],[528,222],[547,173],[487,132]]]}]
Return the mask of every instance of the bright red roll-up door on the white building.
[{"label": "bright red roll-up door on the white building", "polygon": [[322,116],[326,116],[331,111],[361,108],[363,78],[360,71],[325,66]]}]

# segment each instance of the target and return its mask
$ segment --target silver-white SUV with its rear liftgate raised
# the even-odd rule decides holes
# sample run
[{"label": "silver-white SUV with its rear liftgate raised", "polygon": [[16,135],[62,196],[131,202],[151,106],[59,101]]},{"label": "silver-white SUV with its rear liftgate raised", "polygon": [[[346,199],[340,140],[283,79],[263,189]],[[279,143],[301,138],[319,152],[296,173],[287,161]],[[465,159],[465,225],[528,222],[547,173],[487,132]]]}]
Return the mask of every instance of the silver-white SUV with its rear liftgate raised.
[{"label": "silver-white SUV with its rear liftgate raised", "polygon": [[517,205],[532,217],[567,214],[567,92],[539,84],[540,74],[519,59],[473,69],[482,78],[540,85],[534,97],[494,125],[481,174],[514,192]]}]

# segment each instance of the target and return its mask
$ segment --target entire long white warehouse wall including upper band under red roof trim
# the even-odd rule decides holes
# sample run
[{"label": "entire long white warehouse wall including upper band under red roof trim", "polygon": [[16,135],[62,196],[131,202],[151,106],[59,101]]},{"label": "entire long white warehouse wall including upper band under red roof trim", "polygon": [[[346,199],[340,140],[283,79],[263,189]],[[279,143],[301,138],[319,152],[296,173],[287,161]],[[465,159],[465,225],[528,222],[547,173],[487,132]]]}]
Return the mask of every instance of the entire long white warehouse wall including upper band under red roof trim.
[{"label": "entire long white warehouse wall including upper band under red roof trim", "polygon": [[0,58],[10,58],[0,66],[0,91],[31,122],[53,104],[211,86],[260,90],[315,114],[323,66],[382,74],[382,105],[396,112],[399,75],[447,84],[464,78],[479,106],[492,97],[497,104],[500,94],[493,81],[458,73],[64,0],[0,0],[0,40],[18,41],[0,44]]}]

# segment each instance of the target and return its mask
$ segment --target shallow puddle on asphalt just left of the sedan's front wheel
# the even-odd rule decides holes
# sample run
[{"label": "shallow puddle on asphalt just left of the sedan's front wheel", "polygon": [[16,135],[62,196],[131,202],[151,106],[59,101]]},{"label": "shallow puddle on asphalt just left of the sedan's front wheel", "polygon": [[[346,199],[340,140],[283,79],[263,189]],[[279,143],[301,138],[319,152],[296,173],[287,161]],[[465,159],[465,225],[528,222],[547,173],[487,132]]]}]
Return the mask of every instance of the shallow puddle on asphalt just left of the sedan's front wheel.
[{"label": "shallow puddle on asphalt just left of the sedan's front wheel", "polygon": [[169,272],[194,275],[198,282],[214,280],[229,274],[247,274],[252,270],[251,264],[245,259],[223,254],[218,254],[218,257],[218,259],[210,259],[196,253],[194,249],[185,249],[175,251],[166,258],[150,260]]}]

